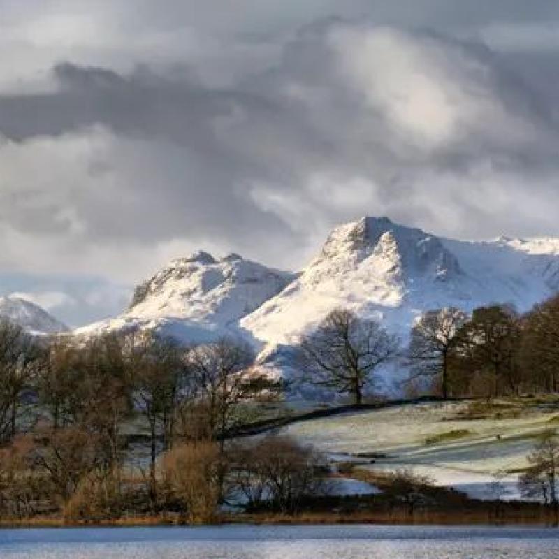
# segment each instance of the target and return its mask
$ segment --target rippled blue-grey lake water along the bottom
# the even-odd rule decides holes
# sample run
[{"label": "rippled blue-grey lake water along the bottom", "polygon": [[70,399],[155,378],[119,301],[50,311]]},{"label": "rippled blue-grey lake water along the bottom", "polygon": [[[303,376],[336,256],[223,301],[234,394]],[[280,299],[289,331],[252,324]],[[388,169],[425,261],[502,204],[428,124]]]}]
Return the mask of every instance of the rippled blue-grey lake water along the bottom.
[{"label": "rippled blue-grey lake water along the bottom", "polygon": [[559,559],[559,530],[222,526],[0,530],[1,559]]}]

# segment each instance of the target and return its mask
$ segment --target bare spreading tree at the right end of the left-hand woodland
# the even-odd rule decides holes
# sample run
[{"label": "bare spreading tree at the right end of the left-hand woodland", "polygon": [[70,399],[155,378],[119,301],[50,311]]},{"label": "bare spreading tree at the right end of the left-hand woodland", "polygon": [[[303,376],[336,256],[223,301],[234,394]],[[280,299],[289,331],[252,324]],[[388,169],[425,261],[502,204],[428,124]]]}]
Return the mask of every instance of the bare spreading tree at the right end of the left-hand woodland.
[{"label": "bare spreading tree at the right end of the left-hand woodland", "polygon": [[187,365],[198,395],[198,408],[204,409],[208,430],[220,441],[233,426],[242,404],[259,395],[277,394],[281,386],[254,368],[249,345],[227,338],[194,347],[187,354]]}]

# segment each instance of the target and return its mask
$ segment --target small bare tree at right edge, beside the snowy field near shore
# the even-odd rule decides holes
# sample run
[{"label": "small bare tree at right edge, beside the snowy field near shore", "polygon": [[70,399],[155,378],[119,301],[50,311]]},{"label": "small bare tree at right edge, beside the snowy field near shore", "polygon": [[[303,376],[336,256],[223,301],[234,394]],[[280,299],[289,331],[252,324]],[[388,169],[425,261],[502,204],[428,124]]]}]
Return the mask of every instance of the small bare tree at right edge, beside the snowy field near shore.
[{"label": "small bare tree at right edge, beside the snowy field near shore", "polygon": [[527,459],[530,467],[518,481],[521,493],[543,500],[559,516],[559,440],[554,430],[542,435]]}]

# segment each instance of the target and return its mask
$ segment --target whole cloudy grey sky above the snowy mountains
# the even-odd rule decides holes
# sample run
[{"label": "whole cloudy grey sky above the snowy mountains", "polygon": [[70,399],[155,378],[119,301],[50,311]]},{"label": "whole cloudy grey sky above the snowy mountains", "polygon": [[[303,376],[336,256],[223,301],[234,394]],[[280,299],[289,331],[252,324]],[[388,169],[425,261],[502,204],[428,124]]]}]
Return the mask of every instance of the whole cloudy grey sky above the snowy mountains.
[{"label": "whole cloudy grey sky above the snowy mountains", "polygon": [[362,215],[559,236],[556,0],[0,0],[0,294],[71,326]]}]

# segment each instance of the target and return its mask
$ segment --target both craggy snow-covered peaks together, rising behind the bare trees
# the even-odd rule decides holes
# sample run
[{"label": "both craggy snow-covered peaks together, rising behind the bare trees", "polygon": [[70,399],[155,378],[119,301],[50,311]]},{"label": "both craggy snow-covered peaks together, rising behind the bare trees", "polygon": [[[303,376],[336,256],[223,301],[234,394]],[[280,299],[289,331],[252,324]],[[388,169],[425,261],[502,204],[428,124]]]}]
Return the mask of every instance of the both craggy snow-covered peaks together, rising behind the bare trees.
[{"label": "both craggy snow-covered peaks together, rising behind the bare trees", "polygon": [[405,343],[426,310],[510,303],[522,312],[557,291],[559,239],[449,240],[363,217],[335,228],[299,274],[236,254],[175,260],[136,288],[119,317],[75,333],[154,328],[182,342],[239,335],[261,363],[289,372],[291,347],[336,307],[379,319]]}]

